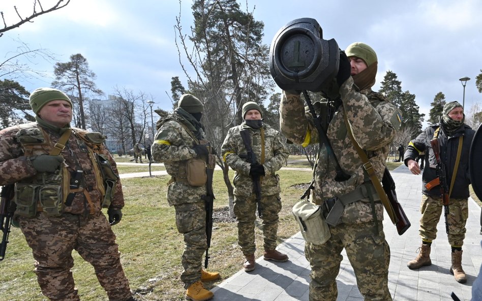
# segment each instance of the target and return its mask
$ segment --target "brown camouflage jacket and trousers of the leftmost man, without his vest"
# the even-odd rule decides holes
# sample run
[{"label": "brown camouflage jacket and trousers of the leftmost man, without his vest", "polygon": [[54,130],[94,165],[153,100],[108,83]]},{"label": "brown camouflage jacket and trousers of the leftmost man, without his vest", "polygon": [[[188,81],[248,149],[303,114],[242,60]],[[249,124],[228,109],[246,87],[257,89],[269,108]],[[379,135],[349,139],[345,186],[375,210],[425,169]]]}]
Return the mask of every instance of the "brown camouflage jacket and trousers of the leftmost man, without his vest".
[{"label": "brown camouflage jacket and trousers of the leftmost man, without his vest", "polygon": [[[26,156],[17,140],[16,133],[20,127],[38,129],[41,125],[33,122],[0,131],[0,185],[28,183],[29,179],[38,174],[30,157]],[[53,126],[42,128],[50,145],[38,152],[48,153],[59,140],[63,129]],[[77,136],[77,132],[83,130],[72,130],[60,156],[64,158],[69,172],[83,171],[80,181],[84,191],[75,193],[71,205],[65,205],[61,216],[47,216],[45,212],[38,212],[35,217],[20,216],[20,228],[33,250],[36,260],[35,273],[42,293],[50,300],[79,300],[70,271],[74,265],[74,249],[94,266],[109,300],[126,300],[131,297],[129,281],[120,264],[115,235],[101,212],[103,196],[95,189],[98,183],[92,172],[93,164],[96,163],[91,161],[86,144]],[[118,174],[115,162],[104,146],[101,152],[107,156],[114,172]],[[110,208],[123,207],[124,195],[119,182]]]}]

